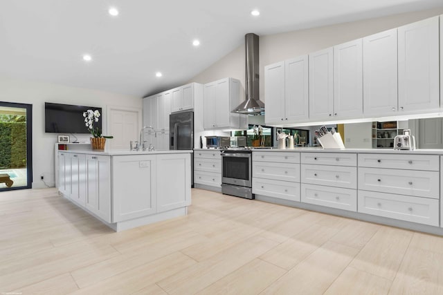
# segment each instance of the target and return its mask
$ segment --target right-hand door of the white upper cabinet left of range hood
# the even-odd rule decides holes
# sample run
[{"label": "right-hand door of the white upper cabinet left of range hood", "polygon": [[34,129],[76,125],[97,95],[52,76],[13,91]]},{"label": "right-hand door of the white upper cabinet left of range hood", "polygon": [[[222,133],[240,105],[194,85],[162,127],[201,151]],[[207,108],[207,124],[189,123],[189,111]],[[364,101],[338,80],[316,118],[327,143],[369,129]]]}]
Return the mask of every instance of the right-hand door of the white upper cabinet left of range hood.
[{"label": "right-hand door of the white upper cabinet left of range hood", "polygon": [[219,128],[230,127],[229,86],[228,78],[215,82],[215,125]]}]

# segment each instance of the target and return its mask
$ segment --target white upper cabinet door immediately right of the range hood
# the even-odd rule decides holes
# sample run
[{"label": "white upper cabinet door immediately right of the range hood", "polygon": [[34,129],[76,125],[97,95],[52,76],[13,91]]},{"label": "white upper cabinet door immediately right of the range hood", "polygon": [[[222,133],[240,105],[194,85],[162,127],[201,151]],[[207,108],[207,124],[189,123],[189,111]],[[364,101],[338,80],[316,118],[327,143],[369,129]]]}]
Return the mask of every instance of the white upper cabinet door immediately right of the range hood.
[{"label": "white upper cabinet door immediately right of the range hood", "polygon": [[264,67],[264,97],[266,113],[264,120],[268,123],[284,121],[284,61]]}]

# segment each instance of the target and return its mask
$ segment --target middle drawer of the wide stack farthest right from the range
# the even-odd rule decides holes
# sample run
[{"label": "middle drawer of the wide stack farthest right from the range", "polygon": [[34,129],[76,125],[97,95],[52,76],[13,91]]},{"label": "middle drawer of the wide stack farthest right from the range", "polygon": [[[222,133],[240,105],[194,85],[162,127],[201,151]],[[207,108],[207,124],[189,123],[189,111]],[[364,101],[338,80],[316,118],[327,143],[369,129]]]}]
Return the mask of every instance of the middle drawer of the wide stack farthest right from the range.
[{"label": "middle drawer of the wide stack farthest right from the range", "polygon": [[359,189],[440,198],[440,175],[435,171],[359,168]]}]

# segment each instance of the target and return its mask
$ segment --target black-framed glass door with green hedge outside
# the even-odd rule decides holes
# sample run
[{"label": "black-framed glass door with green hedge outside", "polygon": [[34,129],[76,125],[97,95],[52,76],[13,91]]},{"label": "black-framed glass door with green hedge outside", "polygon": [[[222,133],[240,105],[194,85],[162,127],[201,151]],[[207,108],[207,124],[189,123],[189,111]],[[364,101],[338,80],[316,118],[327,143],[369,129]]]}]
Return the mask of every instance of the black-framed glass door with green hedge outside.
[{"label": "black-framed glass door with green hedge outside", "polygon": [[32,187],[32,107],[0,102],[0,191]]}]

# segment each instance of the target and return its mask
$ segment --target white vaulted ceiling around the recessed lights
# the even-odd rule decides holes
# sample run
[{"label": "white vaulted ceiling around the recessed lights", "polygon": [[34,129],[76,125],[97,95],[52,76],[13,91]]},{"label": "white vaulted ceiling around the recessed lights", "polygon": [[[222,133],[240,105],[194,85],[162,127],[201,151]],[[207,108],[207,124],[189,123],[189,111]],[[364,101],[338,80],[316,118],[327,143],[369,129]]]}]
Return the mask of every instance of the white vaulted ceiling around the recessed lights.
[{"label": "white vaulted ceiling around the recessed lights", "polygon": [[[118,17],[108,14],[110,6]],[[441,6],[442,0],[1,0],[0,75],[141,97],[185,83],[242,45],[248,32]],[[254,8],[259,17],[251,16]],[[93,61],[84,62],[84,53]]]}]

